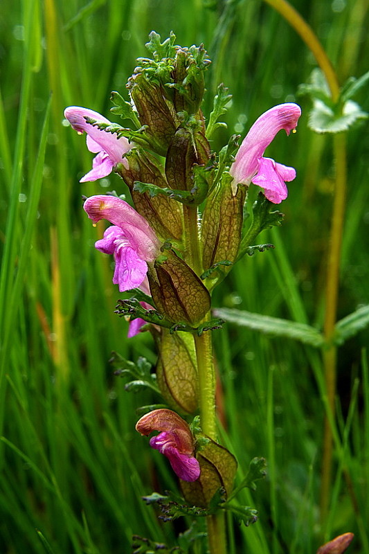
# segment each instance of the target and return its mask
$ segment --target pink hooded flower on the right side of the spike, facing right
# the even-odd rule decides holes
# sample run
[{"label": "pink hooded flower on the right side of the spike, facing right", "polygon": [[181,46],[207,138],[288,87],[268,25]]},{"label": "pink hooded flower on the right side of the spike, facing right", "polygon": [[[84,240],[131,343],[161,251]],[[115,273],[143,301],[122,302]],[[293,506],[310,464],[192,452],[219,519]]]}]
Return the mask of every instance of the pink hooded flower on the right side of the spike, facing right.
[{"label": "pink hooded flower on the right side of the spike, facing right", "polygon": [[263,154],[280,129],[289,134],[296,128],[300,115],[301,109],[297,104],[280,104],[265,111],[255,121],[229,170],[233,177],[233,193],[237,190],[237,184],[248,186],[253,183],[264,189],[264,195],[273,204],[287,198],[285,181],[293,181],[296,171],[271,158],[264,158]]}]

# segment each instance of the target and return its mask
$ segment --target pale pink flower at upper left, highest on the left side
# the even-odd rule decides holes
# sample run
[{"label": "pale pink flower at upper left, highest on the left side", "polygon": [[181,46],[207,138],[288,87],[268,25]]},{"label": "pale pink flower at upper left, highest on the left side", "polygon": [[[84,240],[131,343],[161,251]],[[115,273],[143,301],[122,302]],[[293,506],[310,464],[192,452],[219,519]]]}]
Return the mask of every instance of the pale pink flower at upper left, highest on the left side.
[{"label": "pale pink flower at upper left, highest on the left side", "polygon": [[87,133],[87,148],[90,152],[98,153],[93,159],[91,171],[80,179],[81,183],[106,177],[117,163],[123,163],[128,167],[127,160],[122,157],[132,148],[132,144],[129,144],[125,136],[118,139],[116,133],[102,131],[91,123],[87,123],[86,120],[86,118],[91,118],[98,123],[111,123],[107,118],[98,114],[97,111],[78,106],[66,108],[64,116],[69,120],[73,129],[79,133]]}]

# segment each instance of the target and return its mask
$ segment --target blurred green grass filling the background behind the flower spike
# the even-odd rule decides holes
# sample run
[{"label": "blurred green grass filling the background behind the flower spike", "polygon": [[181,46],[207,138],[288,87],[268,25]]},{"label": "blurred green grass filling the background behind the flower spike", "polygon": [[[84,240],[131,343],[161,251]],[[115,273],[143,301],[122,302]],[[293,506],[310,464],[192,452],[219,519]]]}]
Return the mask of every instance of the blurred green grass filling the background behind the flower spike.
[{"label": "blurred green grass filling the background behind the flower spike", "polygon": [[[304,1],[343,82],[368,70],[368,2]],[[134,431],[136,408],[156,398],[124,391],[111,350],[152,364],[147,334],[127,341],[113,310],[111,260],[93,249],[81,195],[116,189],[115,175],[81,186],[91,166],[84,139],[63,110],[82,105],[109,117],[109,91],[125,93],[147,35],[170,30],[183,46],[204,42],[206,114],[217,84],[233,93],[228,134],[245,134],[262,111],[296,99],[315,66],[280,15],[258,0],[3,0],[0,13],[0,552],[108,554],[131,551],[132,534],[169,546],[173,529],[141,501],[176,484],[168,465]],[[369,111],[368,93],[356,100]],[[332,206],[332,142],[307,127],[277,137],[276,160],[298,177],[283,204],[275,251],[242,260],[215,295],[240,307],[321,328]],[[369,301],[367,127],[348,134],[349,190],[339,317]],[[224,444],[241,479],[253,456],[266,456],[267,479],[240,499],[260,512],[250,528],[233,525],[230,553],[312,554],[325,538],[353,531],[352,553],[368,554],[368,333],[339,350],[338,427],[328,521],[318,498],[323,429],[320,352],[288,339],[226,325],[217,332],[219,409]],[[157,454],[157,455],[156,455]],[[46,546],[45,546],[46,545]],[[195,547],[201,552],[201,546]]]}]

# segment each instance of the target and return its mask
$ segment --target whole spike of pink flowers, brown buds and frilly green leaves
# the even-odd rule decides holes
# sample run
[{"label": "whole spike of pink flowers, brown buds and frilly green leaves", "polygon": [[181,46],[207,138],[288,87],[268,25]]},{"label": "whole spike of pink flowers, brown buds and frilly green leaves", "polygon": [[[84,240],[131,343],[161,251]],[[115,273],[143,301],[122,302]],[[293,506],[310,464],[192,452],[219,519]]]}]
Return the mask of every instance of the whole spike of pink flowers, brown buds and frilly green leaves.
[{"label": "whole spike of pink flowers, brown buds and frilly green leaves", "polygon": [[[136,290],[137,298],[125,304],[129,336],[146,322],[152,324],[162,349],[157,368],[161,394],[175,409],[195,414],[193,334],[204,331],[210,293],[250,246],[247,237],[255,238],[270,226],[270,217],[264,221],[260,213],[269,213],[273,204],[287,197],[285,183],[296,177],[294,168],[264,157],[264,152],[281,129],[287,135],[296,129],[301,111],[291,102],[272,107],[251,126],[235,157],[234,148],[212,152],[201,111],[204,71],[210,63],[206,52],[202,47],[175,46],[173,36],[160,44],[158,37],[152,35],[149,44],[154,59],[138,60],[128,81],[130,101],[118,93],[113,96],[115,113],[131,119],[135,128],[120,127],[83,107],[68,107],[64,115],[78,134],[87,134],[87,148],[96,154],[81,182],[116,172],[129,189],[134,207],[115,195],[95,195],[84,202],[84,211],[93,222],[111,224],[96,248],[114,256],[113,283],[120,292]],[[243,235],[251,184],[264,195],[256,203],[260,213],[251,231]],[[188,338],[176,334],[179,330],[188,332]],[[159,431],[150,445],[168,458],[182,481],[201,481],[201,454],[190,427],[177,413],[152,411],[136,429],[146,436]],[[226,467],[235,467],[235,462],[218,448],[222,447],[208,445],[207,458],[203,453],[201,459],[215,467],[213,486],[227,490],[233,470],[227,472]],[[222,459],[226,462],[219,470]],[[206,488],[204,483],[201,488]]]}]

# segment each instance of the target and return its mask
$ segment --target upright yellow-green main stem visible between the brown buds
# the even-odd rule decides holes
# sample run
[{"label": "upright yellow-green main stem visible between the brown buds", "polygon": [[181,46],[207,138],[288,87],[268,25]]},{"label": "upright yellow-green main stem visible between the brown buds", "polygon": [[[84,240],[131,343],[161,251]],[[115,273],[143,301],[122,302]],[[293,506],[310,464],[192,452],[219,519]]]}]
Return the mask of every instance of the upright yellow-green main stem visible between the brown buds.
[{"label": "upright yellow-green main stem visible between the brown buds", "polygon": [[[197,275],[203,271],[197,208],[183,206],[186,237],[186,257]],[[203,321],[210,320],[210,312]],[[217,416],[215,412],[215,368],[211,333],[194,334],[199,377],[199,411],[201,429],[205,435],[217,440]],[[226,524],[224,512],[206,517],[210,554],[226,554]]]}]

